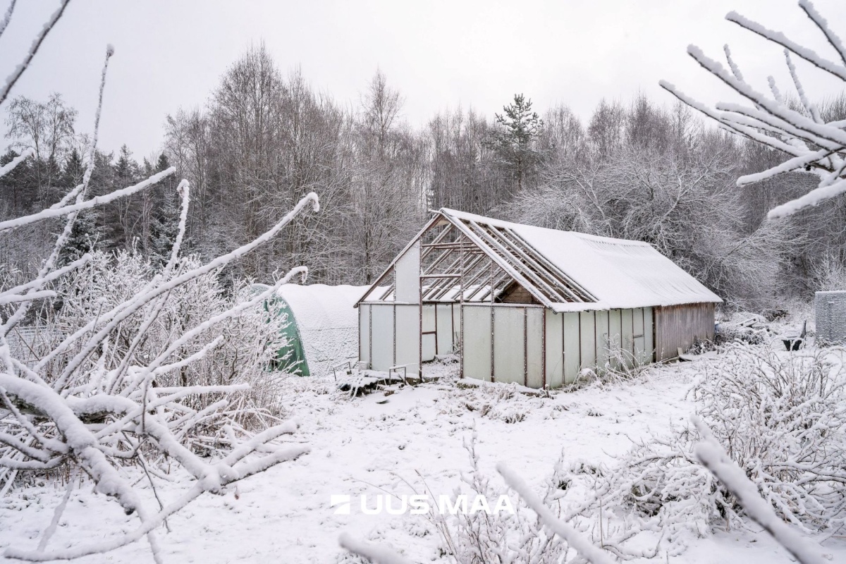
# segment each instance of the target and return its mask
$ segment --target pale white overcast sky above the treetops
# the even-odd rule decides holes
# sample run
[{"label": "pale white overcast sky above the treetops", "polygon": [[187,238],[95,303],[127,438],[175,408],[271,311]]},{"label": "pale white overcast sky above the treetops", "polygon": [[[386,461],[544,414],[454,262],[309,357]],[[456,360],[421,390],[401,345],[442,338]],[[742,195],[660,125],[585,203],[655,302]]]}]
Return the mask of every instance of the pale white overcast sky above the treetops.
[{"label": "pale white overcast sky above the treetops", "polygon": [[[0,0],[3,11],[7,5]],[[843,0],[815,5],[846,39]],[[56,6],[19,0],[0,38],[0,74],[19,63]],[[90,131],[112,43],[100,146],[126,143],[140,159],[161,149],[168,113],[202,106],[226,68],[262,40],[283,72],[300,65],[316,90],[346,105],[358,104],[382,68],[415,127],[459,104],[492,116],[516,92],[538,110],[563,102],[585,120],[603,97],[626,102],[643,91],[671,104],[659,79],[702,101],[730,99],[686,54],[690,43],[722,60],[728,42],[759,90],[768,74],[788,90],[780,49],[726,21],[732,9],[836,59],[795,0],[74,0],[12,96],[61,92],[80,112],[77,129]],[[800,72],[812,96],[843,85],[807,65]]]}]

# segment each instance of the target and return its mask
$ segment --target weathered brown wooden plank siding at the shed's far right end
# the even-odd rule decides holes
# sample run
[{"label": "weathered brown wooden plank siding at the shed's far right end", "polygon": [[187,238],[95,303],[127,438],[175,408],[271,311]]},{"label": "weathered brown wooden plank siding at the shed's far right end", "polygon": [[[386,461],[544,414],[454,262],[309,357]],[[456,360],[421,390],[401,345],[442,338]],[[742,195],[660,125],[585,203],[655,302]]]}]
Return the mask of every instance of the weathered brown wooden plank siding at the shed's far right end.
[{"label": "weathered brown wooden plank siding at the shed's far right end", "polygon": [[714,338],[714,304],[657,306],[655,311],[656,361],[674,359],[694,341]]}]

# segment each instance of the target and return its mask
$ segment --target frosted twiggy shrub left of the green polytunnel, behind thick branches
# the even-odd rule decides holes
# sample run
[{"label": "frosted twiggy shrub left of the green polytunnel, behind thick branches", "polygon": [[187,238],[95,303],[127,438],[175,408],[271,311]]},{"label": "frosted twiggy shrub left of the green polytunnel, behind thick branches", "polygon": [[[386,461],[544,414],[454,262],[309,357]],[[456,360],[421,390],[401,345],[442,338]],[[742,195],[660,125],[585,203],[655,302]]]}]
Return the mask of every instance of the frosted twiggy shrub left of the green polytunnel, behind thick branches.
[{"label": "frosted twiggy shrub left of the green polytunnel, behind thick branches", "polygon": [[[190,271],[201,266],[195,256],[179,260],[177,271]],[[93,322],[93,331],[99,331],[105,322],[98,321],[104,312],[140,293],[157,273],[140,253],[120,251],[107,255],[97,251],[91,261],[58,282],[58,298],[48,299],[43,310],[46,319],[41,326],[46,336],[34,343],[36,358],[47,356],[58,343]],[[105,337],[106,350],[92,353],[80,365],[81,370],[99,370],[108,373],[118,370],[107,383],[108,390],[118,390],[132,378],[131,367],[121,370],[127,355],[136,359],[154,359],[168,348],[174,337],[182,335],[202,320],[220,315],[233,308],[239,298],[249,293],[247,282],[236,283],[232,291],[222,287],[216,272],[173,288],[163,304],[146,304],[134,315],[129,315],[113,326]],[[152,315],[151,315],[152,314]],[[151,322],[149,321],[151,319]],[[141,332],[143,337],[134,342]],[[48,328],[48,329],[47,329]],[[221,417],[249,430],[265,429],[282,415],[276,406],[276,384],[279,373],[267,370],[276,351],[284,344],[277,324],[268,322],[268,315],[261,307],[244,309],[239,315],[226,317],[194,338],[182,343],[174,351],[187,357],[207,342],[218,338],[217,347],[211,348],[202,358],[179,367],[178,370],[159,375],[156,386],[229,386],[247,384],[249,391],[230,394],[228,408],[216,412],[184,436],[184,441],[198,440],[201,435],[218,435]],[[84,342],[75,342],[62,353],[52,357],[44,367],[47,383],[62,372],[69,359],[80,353]],[[197,411],[209,408],[219,401],[222,394],[190,395],[180,399],[187,408]],[[233,418],[229,414],[234,414]],[[207,446],[209,437],[201,441]],[[205,447],[204,447],[205,448]]]}]

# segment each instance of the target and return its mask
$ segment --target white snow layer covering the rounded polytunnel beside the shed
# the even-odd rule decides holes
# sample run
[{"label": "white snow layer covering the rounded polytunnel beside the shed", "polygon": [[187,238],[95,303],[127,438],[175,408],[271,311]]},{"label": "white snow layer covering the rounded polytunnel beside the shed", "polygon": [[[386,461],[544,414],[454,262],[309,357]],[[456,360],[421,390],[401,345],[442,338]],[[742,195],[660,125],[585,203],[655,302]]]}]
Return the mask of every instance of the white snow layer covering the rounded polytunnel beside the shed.
[{"label": "white snow layer covering the rounded polytunnel beside the shed", "polygon": [[294,323],[313,376],[332,374],[332,366],[358,359],[358,309],[366,286],[284,284],[277,295],[294,312]]}]

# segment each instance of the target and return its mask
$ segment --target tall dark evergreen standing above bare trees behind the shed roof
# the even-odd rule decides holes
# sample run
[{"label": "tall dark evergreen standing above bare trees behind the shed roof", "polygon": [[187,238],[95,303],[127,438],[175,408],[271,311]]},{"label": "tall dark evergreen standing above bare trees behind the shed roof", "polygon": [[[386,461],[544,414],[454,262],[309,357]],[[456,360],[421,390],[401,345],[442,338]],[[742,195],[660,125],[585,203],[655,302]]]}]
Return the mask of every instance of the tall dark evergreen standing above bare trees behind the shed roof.
[{"label": "tall dark evergreen standing above bare trees behind the shed roof", "polygon": [[541,151],[536,150],[535,140],[543,130],[543,120],[531,109],[531,100],[522,94],[514,95],[514,103],[503,107],[503,114],[496,114],[496,127],[486,141],[486,146],[497,155],[497,161],[514,180],[520,192],[525,182],[541,162]]}]

